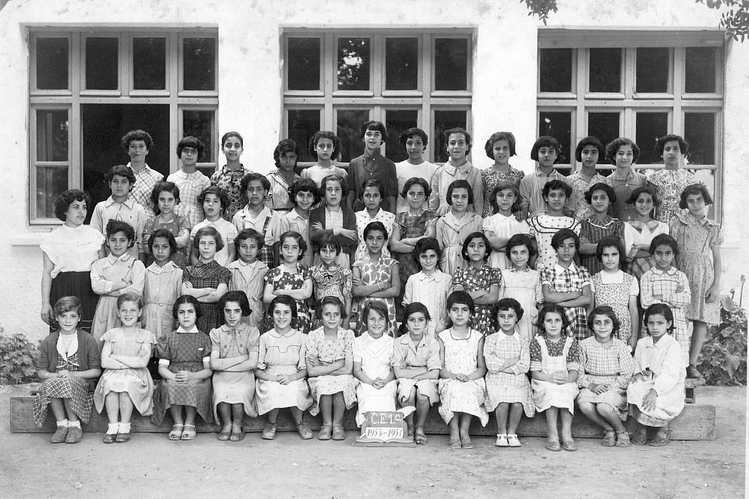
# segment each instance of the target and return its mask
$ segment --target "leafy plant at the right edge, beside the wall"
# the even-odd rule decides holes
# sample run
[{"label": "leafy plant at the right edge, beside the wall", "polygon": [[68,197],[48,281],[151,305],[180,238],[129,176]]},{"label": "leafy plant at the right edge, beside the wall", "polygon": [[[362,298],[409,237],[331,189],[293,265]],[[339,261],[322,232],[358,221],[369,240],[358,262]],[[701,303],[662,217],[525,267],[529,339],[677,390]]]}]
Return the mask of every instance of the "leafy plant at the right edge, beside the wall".
[{"label": "leafy plant at the right edge, beside the wall", "polygon": [[747,384],[747,315],[731,294],[721,300],[721,324],[708,330],[697,367],[711,385]]}]

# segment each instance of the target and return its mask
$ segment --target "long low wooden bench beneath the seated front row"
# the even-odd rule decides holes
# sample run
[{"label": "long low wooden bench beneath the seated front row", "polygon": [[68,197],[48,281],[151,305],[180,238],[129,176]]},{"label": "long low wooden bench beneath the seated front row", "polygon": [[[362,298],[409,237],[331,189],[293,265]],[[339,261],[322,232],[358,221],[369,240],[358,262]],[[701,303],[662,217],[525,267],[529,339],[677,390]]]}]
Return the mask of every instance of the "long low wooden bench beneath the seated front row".
[{"label": "long low wooden bench beneath the seated front row", "polygon": [[[21,433],[35,432],[54,432],[55,421],[51,411],[47,415],[44,426],[37,428],[34,425],[33,417],[34,396],[13,396],[10,397],[10,431]],[[354,420],[356,412],[354,410],[346,411],[344,417],[344,428],[347,430],[357,430],[357,423]],[[312,417],[309,414],[304,415],[304,419],[309,423],[310,428],[317,431],[320,429],[321,418]],[[139,414],[133,414],[133,432],[147,433],[166,433],[172,429],[172,420],[167,415],[164,422],[158,426],[151,423],[148,417],[142,417]],[[106,414],[91,415],[91,421],[83,425],[85,432],[106,432]],[[264,417],[245,417],[244,429],[246,432],[262,432],[265,425]],[[628,419],[629,429],[634,429],[634,420]],[[682,414],[679,414],[669,424],[671,438],[674,440],[713,440],[715,439],[715,406],[702,404],[686,405]],[[196,430],[198,432],[217,432],[219,426],[216,424],[198,423]],[[280,432],[295,432],[297,427],[291,420],[288,411],[281,411],[277,422],[277,429]],[[439,414],[437,408],[432,408],[429,412],[424,431],[430,434],[447,434],[449,430]],[[494,416],[491,417],[487,426],[482,428],[478,420],[474,418],[470,429],[471,435],[494,436],[497,434],[497,423]],[[545,437],[546,420],[543,414],[536,414],[536,417],[527,419],[524,417],[518,426],[518,435],[521,437]],[[598,426],[591,423],[580,411],[575,411],[572,423],[572,435],[577,438],[601,438],[603,431]]]}]

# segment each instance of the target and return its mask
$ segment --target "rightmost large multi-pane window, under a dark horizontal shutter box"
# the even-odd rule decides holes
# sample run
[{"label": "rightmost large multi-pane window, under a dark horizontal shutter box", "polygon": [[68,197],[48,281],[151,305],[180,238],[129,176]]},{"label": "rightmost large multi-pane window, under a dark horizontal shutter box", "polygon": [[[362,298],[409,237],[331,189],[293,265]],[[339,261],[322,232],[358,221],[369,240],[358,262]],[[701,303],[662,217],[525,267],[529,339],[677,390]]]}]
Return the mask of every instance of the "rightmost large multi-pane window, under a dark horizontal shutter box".
[{"label": "rightmost large multi-pane window, under a dark horizontal shutter box", "polygon": [[583,137],[628,137],[645,173],[662,167],[658,137],[681,135],[690,145],[685,167],[717,195],[720,217],[723,43],[720,31],[542,29],[538,133],[560,141],[568,171]]}]

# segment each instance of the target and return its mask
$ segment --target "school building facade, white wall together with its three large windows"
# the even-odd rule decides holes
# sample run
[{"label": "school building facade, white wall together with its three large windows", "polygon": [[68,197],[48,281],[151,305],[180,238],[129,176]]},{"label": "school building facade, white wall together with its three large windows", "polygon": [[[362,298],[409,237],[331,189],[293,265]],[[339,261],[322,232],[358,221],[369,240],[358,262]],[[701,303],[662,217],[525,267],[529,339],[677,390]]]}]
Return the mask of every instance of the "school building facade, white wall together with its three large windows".
[{"label": "school building facade, white wall together with its three large windows", "polygon": [[[422,127],[427,160],[446,160],[440,132],[464,126],[471,160],[510,130],[512,165],[533,171],[530,148],[552,135],[574,168],[587,135],[628,136],[640,166],[658,167],[655,139],[691,144],[688,167],[715,194],[721,292],[745,272],[749,178],[749,41],[726,41],[720,13],[683,0],[560,0],[548,25],[517,0],[10,0],[0,10],[0,324],[37,339],[40,241],[60,222],[52,200],[83,188],[109,195],[103,174],[127,163],[119,139],[142,128],[148,164],[178,169],[179,139],[206,144],[199,165],[222,165],[236,130],[243,163],[273,169],[273,148],[315,131],[361,153],[367,119],[390,130],[384,154],[405,158],[399,130]],[[303,153],[300,165],[312,160]],[[93,204],[89,207],[89,213]]]}]

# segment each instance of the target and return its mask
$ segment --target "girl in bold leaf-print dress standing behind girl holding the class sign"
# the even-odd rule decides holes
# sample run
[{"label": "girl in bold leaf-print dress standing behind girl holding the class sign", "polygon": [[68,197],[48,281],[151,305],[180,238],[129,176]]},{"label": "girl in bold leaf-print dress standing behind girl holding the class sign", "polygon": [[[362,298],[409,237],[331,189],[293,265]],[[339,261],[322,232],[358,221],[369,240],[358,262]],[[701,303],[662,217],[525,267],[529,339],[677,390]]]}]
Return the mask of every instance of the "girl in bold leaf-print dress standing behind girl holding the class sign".
[{"label": "girl in bold leaf-print dress standing behind girl holding the class sign", "polygon": [[387,244],[387,230],[381,222],[372,222],[364,229],[367,255],[354,262],[351,270],[351,291],[360,297],[359,332],[366,331],[364,309],[369,301],[381,301],[387,308],[387,334],[395,337],[395,297],[401,292],[398,262],[382,254]]}]

